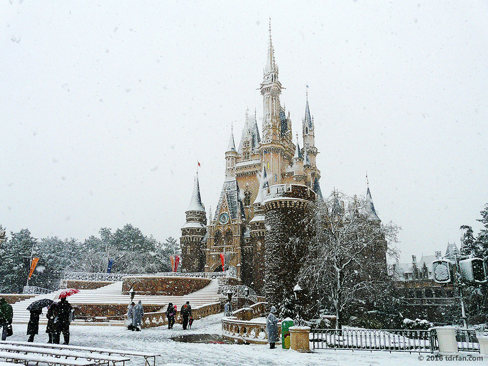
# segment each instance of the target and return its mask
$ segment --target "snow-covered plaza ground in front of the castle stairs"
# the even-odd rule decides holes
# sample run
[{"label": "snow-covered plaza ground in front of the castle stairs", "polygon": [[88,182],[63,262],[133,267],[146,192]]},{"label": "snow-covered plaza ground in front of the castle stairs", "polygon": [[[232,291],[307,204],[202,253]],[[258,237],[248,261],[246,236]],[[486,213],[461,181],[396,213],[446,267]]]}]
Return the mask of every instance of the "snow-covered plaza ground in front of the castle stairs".
[{"label": "snow-covered plaza ground in front of the castle stairs", "polygon": [[[349,350],[320,350],[312,353],[298,353],[283,350],[281,347],[269,349],[262,345],[229,345],[182,343],[171,340],[173,335],[182,334],[221,334],[220,320],[223,314],[211,315],[193,323],[191,330],[183,330],[180,324],[174,329],[157,327],[131,332],[122,326],[76,325],[71,327],[71,344],[102,348],[131,349],[160,353],[156,361],[158,366],[198,365],[198,366],[258,366],[258,365],[378,365],[411,366],[426,365],[427,353],[422,354],[424,361],[419,361],[419,354],[402,352],[365,352]],[[16,324],[12,341],[26,341],[27,325]],[[45,325],[41,325],[40,334],[35,342],[47,342]],[[62,336],[61,336],[62,342]],[[476,354],[479,356],[479,354]],[[450,365],[483,365],[486,361],[446,362]],[[142,366],[143,359],[133,358],[127,366]]]}]

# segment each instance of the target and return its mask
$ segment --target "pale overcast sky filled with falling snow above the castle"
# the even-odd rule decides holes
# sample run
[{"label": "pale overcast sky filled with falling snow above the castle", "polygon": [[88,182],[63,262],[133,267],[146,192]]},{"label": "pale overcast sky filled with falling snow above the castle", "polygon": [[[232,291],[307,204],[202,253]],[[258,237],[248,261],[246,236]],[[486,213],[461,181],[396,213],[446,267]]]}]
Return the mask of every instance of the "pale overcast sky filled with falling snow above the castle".
[{"label": "pale overcast sky filled with falling snow above the castle", "polygon": [[[137,3],[137,5],[135,5]],[[0,224],[180,237],[197,159],[214,210],[230,125],[305,84],[324,193],[371,194],[402,259],[459,245],[488,203],[488,2],[0,2]],[[261,128],[261,123],[258,123]]]}]

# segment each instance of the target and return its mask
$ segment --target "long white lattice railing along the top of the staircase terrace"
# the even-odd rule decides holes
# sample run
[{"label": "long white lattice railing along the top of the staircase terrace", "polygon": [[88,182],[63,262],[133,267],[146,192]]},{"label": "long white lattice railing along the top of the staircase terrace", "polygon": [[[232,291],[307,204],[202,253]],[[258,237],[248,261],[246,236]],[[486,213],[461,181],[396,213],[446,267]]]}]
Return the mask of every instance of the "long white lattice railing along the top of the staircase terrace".
[{"label": "long white lattice railing along the top of the staircase terrace", "polygon": [[64,271],[64,280],[68,281],[101,281],[101,282],[117,282],[122,281],[124,277],[193,277],[193,278],[219,278],[232,277],[237,278],[237,269],[229,267],[225,272],[158,272],[158,273],[97,273],[97,272],[71,272]]}]

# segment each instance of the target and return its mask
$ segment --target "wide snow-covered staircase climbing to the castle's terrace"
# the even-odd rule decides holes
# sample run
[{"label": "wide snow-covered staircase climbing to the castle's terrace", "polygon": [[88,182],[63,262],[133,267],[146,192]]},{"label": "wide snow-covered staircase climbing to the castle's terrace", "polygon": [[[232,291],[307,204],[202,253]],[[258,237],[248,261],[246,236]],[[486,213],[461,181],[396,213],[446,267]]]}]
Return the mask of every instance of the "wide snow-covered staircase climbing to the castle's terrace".
[{"label": "wide snow-covered staircase climbing to the castle's terrace", "polygon": [[[222,295],[219,295],[219,284],[217,279],[213,279],[210,283],[202,289],[183,296],[153,296],[153,295],[136,295],[134,302],[137,304],[141,300],[142,305],[161,305],[166,308],[168,303],[178,306],[178,309],[187,301],[194,307],[218,302]],[[60,290],[61,291],[61,290]],[[37,300],[41,299],[58,299],[60,291],[54,291],[49,294],[36,295],[27,300],[21,300],[12,304],[14,310],[13,323],[26,324],[29,322],[29,311],[27,306]],[[130,296],[122,295],[122,281],[115,282],[93,290],[80,290],[79,293],[68,297],[71,305],[89,305],[89,304],[124,304],[129,305]],[[46,311],[44,308],[43,314],[40,318],[40,324],[46,324]],[[123,325],[122,321],[110,321],[104,323],[85,323],[84,320],[75,320],[72,325]]]}]

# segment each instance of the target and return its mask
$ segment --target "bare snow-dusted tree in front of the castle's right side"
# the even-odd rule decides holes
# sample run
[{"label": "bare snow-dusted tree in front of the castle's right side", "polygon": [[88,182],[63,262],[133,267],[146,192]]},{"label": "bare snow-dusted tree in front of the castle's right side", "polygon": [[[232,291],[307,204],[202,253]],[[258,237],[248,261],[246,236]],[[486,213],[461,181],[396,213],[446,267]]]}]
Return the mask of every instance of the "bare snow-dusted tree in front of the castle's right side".
[{"label": "bare snow-dusted tree in front of the castle's right side", "polygon": [[387,244],[396,242],[398,227],[382,224],[369,198],[334,192],[317,203],[317,215],[304,224],[315,226],[299,281],[319,306],[330,307],[340,329],[343,316],[357,300],[373,299],[386,288]]}]

